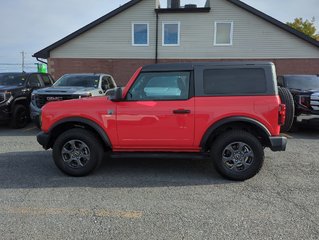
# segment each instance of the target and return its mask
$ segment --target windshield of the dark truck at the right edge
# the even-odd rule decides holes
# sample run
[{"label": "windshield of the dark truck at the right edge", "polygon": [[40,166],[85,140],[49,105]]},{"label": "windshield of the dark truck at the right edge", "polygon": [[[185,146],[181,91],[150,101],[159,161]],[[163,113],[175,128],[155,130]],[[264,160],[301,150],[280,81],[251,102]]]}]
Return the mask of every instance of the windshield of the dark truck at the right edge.
[{"label": "windshield of the dark truck at the right edge", "polygon": [[311,90],[319,89],[319,77],[313,76],[286,76],[286,86],[288,88]]}]

